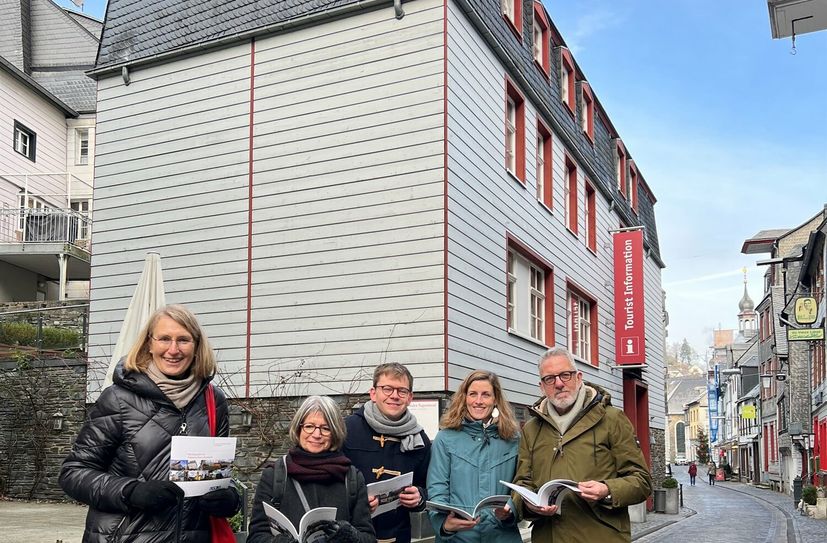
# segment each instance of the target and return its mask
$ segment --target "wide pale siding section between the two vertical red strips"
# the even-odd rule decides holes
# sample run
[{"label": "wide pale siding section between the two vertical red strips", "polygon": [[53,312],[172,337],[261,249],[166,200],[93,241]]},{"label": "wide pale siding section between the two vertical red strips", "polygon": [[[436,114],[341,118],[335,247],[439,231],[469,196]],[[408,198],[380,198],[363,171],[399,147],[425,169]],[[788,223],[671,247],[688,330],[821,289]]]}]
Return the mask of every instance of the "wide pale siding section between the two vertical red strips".
[{"label": "wide pale siding section between the two vertical red strips", "polygon": [[253,390],[443,388],[441,3],[405,13],[256,43]]}]

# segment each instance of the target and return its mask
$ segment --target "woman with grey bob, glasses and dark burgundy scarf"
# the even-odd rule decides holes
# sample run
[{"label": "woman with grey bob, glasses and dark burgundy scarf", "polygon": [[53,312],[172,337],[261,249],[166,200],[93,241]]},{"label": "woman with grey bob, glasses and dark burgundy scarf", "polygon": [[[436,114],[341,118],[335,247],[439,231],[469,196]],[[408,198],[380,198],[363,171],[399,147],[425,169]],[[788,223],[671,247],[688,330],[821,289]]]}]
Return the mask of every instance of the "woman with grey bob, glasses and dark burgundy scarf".
[{"label": "woman with grey bob, glasses and dark burgundy scarf", "polygon": [[329,543],[373,543],[365,479],[342,454],[345,422],[336,402],[310,396],[299,407],[288,432],[292,448],[264,470],[253,500],[248,543],[293,543],[273,535],[264,503],[281,511],[299,529],[302,516],[317,507],[335,507],[335,521],[312,525]]}]

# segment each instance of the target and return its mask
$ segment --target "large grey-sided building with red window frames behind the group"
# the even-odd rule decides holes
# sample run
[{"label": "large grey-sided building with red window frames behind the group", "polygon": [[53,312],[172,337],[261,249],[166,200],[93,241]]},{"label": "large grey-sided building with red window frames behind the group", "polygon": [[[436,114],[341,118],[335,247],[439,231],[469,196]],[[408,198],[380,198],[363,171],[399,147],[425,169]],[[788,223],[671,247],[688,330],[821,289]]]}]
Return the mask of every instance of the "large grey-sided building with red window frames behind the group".
[{"label": "large grey-sided building with red window frames behind the group", "polygon": [[[644,450],[662,447],[655,198],[545,7],[249,4],[182,13],[177,38],[156,8],[109,4],[89,400],[154,250],[235,397],[364,392],[393,360],[418,394],[483,368],[527,405],[540,354],[564,345]],[[198,22],[211,38],[187,33]],[[646,358],[630,369],[615,352],[622,227],[644,231]]]}]

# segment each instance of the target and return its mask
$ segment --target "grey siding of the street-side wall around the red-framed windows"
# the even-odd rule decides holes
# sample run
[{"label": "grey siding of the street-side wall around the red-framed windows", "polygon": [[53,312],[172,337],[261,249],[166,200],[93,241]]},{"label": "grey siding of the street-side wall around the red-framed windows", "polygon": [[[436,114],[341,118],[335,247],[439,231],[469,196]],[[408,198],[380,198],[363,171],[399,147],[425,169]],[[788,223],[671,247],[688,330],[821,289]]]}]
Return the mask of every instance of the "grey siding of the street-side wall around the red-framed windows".
[{"label": "grey siding of the street-side wall around the red-framed windows", "polygon": [[[599,330],[599,365],[579,367],[587,380],[609,390],[617,398],[615,404],[622,405],[620,373],[609,369],[614,363],[613,284],[606,279],[613,276],[609,230],[618,226],[618,218],[598,191],[597,254],[589,251],[584,236],[585,177],[578,167],[578,236],[566,228],[565,145],[558,134],[552,136],[553,210],[537,201],[537,114],[528,102],[525,186],[506,172],[505,70],[453,3],[448,17],[449,385],[453,388],[472,369],[484,368],[503,377],[512,401],[531,403],[539,394],[536,363],[545,348],[506,331],[505,257],[510,233],[554,267],[557,345],[567,344],[567,281],[597,301],[598,322],[592,325]],[[647,274],[652,275],[649,289],[659,289],[659,270],[647,269]],[[648,309],[647,319],[653,311]]]}]

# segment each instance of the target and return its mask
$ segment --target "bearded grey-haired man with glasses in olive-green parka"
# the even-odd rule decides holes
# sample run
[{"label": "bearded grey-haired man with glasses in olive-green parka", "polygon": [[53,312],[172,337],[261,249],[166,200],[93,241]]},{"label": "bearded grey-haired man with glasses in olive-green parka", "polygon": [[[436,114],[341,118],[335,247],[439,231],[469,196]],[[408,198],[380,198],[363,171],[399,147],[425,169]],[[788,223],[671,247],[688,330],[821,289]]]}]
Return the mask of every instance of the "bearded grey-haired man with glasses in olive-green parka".
[{"label": "bearded grey-haired man with glasses in olive-green parka", "polygon": [[543,398],[523,427],[514,482],[536,490],[553,479],[572,479],[580,493],[541,507],[515,494],[522,518],[533,521],[531,540],[631,541],[628,506],[652,492],[632,423],[611,406],[608,392],[583,382],[566,349],[546,351],[539,371]]}]

